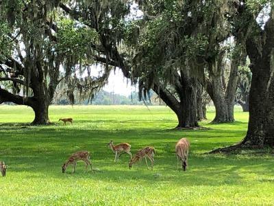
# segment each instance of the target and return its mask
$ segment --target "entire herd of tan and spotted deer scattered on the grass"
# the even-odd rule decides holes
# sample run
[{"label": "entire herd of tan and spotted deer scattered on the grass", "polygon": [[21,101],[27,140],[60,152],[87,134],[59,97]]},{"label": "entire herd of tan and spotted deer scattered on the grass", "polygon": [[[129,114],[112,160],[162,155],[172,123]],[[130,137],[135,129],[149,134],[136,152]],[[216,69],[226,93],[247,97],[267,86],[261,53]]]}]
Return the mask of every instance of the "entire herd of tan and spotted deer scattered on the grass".
[{"label": "entire herd of tan and spotted deer scattered on the grass", "polygon": [[[71,122],[71,124],[73,123],[72,118],[63,118],[63,119],[59,119],[59,121],[60,120],[63,121],[64,124],[66,124],[66,122]],[[115,162],[117,161],[117,159],[119,159],[119,157],[122,154],[127,153],[130,156],[129,169],[132,168],[132,165],[134,163],[140,161],[141,159],[145,157],[146,164],[147,164],[147,158],[151,161],[151,169],[153,170],[153,163],[154,163],[153,157],[155,155],[155,149],[153,147],[147,146],[145,148],[142,148],[141,150],[138,150],[138,152],[136,153],[136,155],[134,155],[134,157],[132,157],[132,152],[130,152],[132,146],[130,146],[130,144],[128,143],[121,143],[114,146],[113,141],[111,140],[110,143],[107,144],[107,146],[109,146],[111,150],[114,152]],[[179,168],[179,161],[181,161],[182,170],[186,171],[186,167],[188,165],[189,148],[190,148],[190,143],[188,139],[182,138],[177,142],[175,146],[175,152],[177,155],[177,169]],[[69,160],[62,165],[62,172],[64,173],[66,171],[66,168],[68,165],[73,165],[73,173],[74,173],[77,161],[84,161],[84,163],[86,163],[86,169],[88,168],[88,165],[90,165],[90,168],[93,172],[92,163],[90,161],[90,152],[88,151],[79,151],[71,155],[71,157],[69,157]],[[6,168],[7,167],[5,163],[0,161],[0,171],[2,176],[5,176]],[[149,169],[149,165],[147,165],[147,169]]]}]

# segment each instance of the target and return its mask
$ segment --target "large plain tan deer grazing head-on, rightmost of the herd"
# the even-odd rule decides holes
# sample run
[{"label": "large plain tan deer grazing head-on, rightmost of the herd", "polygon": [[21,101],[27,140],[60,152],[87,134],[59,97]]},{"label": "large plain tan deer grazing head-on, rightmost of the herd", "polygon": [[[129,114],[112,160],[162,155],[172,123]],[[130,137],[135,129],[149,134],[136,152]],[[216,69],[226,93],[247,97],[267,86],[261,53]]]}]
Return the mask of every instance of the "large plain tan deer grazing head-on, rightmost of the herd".
[{"label": "large plain tan deer grazing head-on, rightmost of the herd", "polygon": [[177,155],[177,170],[179,168],[179,159],[182,162],[182,170],[186,171],[186,167],[188,166],[188,151],[189,151],[190,143],[188,139],[182,138],[180,139],[176,146],[175,152]]}]

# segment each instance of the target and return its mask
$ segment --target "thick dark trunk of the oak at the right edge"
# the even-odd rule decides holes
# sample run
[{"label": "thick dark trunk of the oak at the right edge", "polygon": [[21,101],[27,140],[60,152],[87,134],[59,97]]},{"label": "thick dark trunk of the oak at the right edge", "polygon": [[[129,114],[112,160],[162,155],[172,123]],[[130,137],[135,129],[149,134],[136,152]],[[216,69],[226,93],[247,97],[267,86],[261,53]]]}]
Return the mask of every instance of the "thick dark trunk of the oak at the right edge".
[{"label": "thick dark trunk of the oak at the right edge", "polygon": [[269,16],[263,31],[253,21],[261,32],[247,39],[252,80],[249,125],[242,144],[248,146],[274,146],[274,8]]}]

